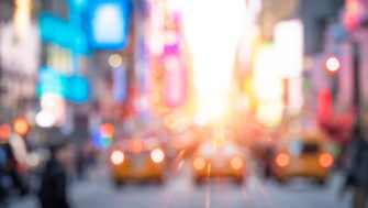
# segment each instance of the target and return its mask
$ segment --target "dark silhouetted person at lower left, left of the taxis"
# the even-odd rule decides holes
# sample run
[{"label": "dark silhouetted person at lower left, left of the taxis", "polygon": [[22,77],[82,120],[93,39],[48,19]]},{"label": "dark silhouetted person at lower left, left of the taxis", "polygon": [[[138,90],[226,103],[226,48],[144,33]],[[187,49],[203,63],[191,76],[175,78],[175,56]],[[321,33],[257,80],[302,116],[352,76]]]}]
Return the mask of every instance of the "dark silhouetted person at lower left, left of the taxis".
[{"label": "dark silhouetted person at lower left, left of the taxis", "polygon": [[51,160],[42,174],[38,193],[42,208],[69,208],[67,175],[73,166],[70,144],[60,141],[51,146]]}]

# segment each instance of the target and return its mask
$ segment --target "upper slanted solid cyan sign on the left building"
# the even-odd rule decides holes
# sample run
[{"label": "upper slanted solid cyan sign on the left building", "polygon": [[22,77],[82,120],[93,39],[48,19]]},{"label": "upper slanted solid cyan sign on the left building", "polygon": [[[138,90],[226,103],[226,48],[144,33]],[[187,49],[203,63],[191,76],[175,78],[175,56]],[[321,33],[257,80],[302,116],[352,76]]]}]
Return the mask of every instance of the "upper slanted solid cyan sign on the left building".
[{"label": "upper slanted solid cyan sign on the left building", "polygon": [[89,53],[86,32],[52,13],[41,14],[40,30],[41,39],[46,43],[54,43],[79,54]]}]

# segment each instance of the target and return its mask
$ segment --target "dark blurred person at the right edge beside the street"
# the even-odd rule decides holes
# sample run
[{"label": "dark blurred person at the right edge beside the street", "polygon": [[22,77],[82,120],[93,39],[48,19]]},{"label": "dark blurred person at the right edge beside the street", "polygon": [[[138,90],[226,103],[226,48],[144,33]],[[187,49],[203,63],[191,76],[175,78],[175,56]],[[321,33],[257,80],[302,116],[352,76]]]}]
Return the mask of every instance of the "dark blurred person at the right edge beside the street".
[{"label": "dark blurred person at the right edge beside the street", "polygon": [[347,147],[346,178],[343,189],[352,188],[352,208],[365,208],[368,198],[368,143],[355,128]]}]

